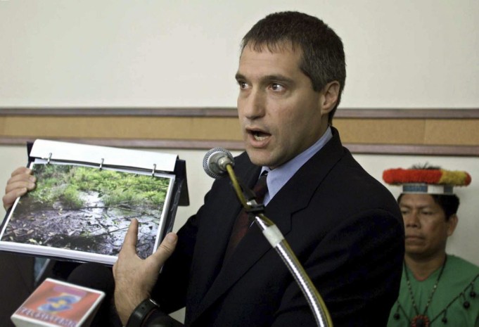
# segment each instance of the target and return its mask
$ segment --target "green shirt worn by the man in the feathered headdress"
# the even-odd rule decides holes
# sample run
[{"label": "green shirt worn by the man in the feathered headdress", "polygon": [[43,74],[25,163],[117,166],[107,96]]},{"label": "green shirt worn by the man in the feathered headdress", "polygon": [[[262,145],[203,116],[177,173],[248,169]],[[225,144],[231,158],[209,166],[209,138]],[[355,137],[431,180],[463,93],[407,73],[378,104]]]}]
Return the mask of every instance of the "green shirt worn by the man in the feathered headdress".
[{"label": "green shirt worn by the man in the feathered headdress", "polygon": [[[441,268],[434,271],[425,281],[417,281],[409,268],[406,269],[416,307],[422,315]],[[466,309],[467,303],[469,305]],[[400,295],[391,309],[388,327],[410,326],[414,316],[416,310],[407,287],[406,274],[402,271]],[[430,326],[479,327],[479,267],[460,257],[447,255],[444,271],[426,316],[430,320]],[[444,318],[447,319],[447,323],[442,321]]]}]

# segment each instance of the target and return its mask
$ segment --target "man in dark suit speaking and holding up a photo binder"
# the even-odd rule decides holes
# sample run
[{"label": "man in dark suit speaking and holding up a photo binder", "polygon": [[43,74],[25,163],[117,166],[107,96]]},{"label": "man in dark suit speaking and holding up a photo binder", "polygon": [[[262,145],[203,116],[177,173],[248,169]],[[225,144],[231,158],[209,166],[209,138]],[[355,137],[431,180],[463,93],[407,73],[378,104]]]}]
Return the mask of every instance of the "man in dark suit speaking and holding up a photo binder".
[{"label": "man in dark suit speaking and holding up a photo binder", "polygon": [[[234,170],[249,187],[269,172],[265,214],[334,326],[385,326],[400,286],[404,227],[395,199],[331,126],[345,75],[343,44],[321,20],[297,12],[260,20],[243,38],[236,74],[246,153]],[[18,184],[25,179],[27,186],[26,177],[12,179],[16,193],[26,192]],[[136,255],[133,220],[113,269],[122,324],[183,326],[167,313],[186,306],[186,326],[315,326],[257,226],[225,255],[240,210],[229,181],[215,181],[198,213],[144,260]]]}]

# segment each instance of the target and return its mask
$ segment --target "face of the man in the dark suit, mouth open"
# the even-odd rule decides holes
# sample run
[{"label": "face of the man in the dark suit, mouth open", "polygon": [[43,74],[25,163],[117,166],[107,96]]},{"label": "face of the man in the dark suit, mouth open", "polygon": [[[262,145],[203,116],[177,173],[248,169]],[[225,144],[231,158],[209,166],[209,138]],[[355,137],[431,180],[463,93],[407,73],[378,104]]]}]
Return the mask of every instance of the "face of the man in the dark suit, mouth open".
[{"label": "face of the man in the dark suit, mouth open", "polygon": [[[250,160],[272,169],[312,146],[327,127],[323,92],[299,67],[290,46],[260,52],[246,46],[238,73],[238,115]],[[324,117],[323,117],[324,115]]]}]

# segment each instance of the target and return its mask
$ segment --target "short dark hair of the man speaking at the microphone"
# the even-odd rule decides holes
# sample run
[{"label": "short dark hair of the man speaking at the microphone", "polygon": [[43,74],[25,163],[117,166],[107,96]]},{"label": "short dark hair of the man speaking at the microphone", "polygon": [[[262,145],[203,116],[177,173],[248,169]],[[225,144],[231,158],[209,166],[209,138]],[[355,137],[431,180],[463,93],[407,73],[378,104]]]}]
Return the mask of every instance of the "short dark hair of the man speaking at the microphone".
[{"label": "short dark hair of the man speaking at the microphone", "polygon": [[338,81],[338,102],[328,115],[331,124],[338,108],[346,80],[343,42],[322,20],[298,11],[272,13],[258,21],[241,41],[241,53],[246,46],[262,51],[277,51],[290,43],[302,51],[300,69],[311,79],[314,91],[321,91],[329,82]]}]

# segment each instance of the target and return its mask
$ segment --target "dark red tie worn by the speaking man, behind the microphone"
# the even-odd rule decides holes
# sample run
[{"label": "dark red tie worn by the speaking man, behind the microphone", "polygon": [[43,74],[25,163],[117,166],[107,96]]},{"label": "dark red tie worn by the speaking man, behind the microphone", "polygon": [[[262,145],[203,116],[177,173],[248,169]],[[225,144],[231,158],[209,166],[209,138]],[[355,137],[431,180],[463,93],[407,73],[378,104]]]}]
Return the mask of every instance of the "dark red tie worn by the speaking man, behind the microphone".
[{"label": "dark red tie worn by the speaking man, behind the microphone", "polygon": [[[268,191],[268,186],[266,184],[266,178],[268,176],[268,172],[264,171],[257,180],[255,186],[253,186],[253,192],[255,193],[256,202],[262,203],[264,199],[264,195]],[[250,228],[250,219],[248,218],[248,212],[243,208],[236,217],[236,221],[234,222],[233,229],[231,229],[231,236],[229,237],[228,247],[226,248],[226,254],[224,258],[227,259],[233,253],[236,245],[241,241],[241,238],[245,236],[246,232]]]}]

